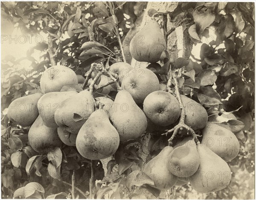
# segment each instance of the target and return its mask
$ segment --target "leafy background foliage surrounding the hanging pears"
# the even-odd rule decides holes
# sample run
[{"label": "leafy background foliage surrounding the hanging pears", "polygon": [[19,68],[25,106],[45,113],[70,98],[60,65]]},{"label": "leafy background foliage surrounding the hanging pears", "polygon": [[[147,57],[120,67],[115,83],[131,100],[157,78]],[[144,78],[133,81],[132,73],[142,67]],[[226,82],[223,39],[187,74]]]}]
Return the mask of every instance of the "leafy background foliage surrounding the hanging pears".
[{"label": "leafy background foliage surrounding the hanging pears", "polygon": [[[70,67],[80,75],[84,75],[92,63],[104,61],[111,65],[120,59],[120,53],[115,48],[119,46],[117,36],[121,35],[123,40],[133,27],[138,12],[146,7],[145,3],[135,2],[15,2],[15,6],[10,2],[1,2],[1,6],[2,24],[8,26],[2,27],[2,35],[8,35],[14,29],[21,29],[24,35],[49,34],[49,37],[56,38],[53,41],[54,51],[62,40],[58,37],[61,23],[61,31],[66,38],[62,41],[56,63]],[[155,12],[151,10],[148,14]],[[241,145],[239,156],[229,163],[233,171],[230,185],[203,198],[252,198],[255,140],[254,127],[250,128],[250,125],[254,121],[255,95],[254,4],[182,2],[169,14],[172,20],[177,20],[181,15],[190,19],[186,31],[194,47],[199,46],[200,55],[196,58],[191,54],[190,59],[177,58],[170,62],[167,53],[160,61],[160,68],[152,65],[148,68],[164,84],[168,80],[170,64],[172,68],[180,68],[182,75],[178,81],[183,94],[203,104],[208,115],[213,116],[211,121],[216,122],[222,116],[221,122],[226,128],[238,130],[234,132]],[[161,21],[162,16],[158,17]],[[119,29],[116,29],[116,25]],[[213,40],[207,42],[209,38]],[[32,56],[37,50],[41,52],[39,60]],[[67,145],[61,149],[55,148],[47,155],[38,155],[29,146],[29,127],[9,122],[5,115],[6,108],[13,100],[40,91],[41,72],[51,65],[47,50],[48,41],[44,40],[29,49],[25,58],[16,59],[9,55],[2,60],[2,198],[70,198],[73,170],[76,187],[88,197],[91,176],[89,160],[81,157],[76,148]],[[30,66],[22,66],[23,60],[30,61]],[[113,98],[115,95],[109,94]],[[230,120],[230,113],[240,121]],[[159,153],[166,142],[165,137],[152,135],[147,159]],[[95,198],[102,198],[105,194],[116,199],[149,198],[148,192],[153,198],[160,195],[160,191],[148,185],[152,180],[142,172],[143,161],[138,154],[140,148],[138,141],[120,145],[115,159],[108,162],[105,176],[102,163],[93,163],[97,180]],[[176,198],[202,198],[190,185],[176,189]],[[79,191],[76,191],[76,196],[84,198]]]}]

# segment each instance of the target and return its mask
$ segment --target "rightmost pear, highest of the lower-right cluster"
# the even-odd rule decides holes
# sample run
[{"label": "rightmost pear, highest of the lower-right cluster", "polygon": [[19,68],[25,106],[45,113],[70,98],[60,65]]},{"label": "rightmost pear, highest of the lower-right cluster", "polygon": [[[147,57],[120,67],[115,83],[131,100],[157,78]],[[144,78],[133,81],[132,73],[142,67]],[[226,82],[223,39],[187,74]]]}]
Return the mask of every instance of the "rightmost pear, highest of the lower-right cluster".
[{"label": "rightmost pear, highest of the lower-right cluster", "polygon": [[234,133],[213,122],[207,122],[201,131],[203,134],[202,144],[206,145],[215,154],[226,162],[234,159],[239,153],[239,141]]}]

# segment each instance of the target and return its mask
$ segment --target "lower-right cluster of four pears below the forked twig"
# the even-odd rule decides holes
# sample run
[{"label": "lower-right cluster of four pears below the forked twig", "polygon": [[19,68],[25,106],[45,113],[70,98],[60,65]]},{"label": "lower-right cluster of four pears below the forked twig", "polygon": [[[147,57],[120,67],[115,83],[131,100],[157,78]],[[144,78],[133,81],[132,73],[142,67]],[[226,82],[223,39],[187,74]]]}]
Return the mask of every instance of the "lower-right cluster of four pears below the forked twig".
[{"label": "lower-right cluster of four pears below the forked twig", "polygon": [[213,122],[207,122],[201,133],[201,144],[187,136],[146,163],[144,172],[154,180],[155,188],[168,190],[190,182],[196,191],[208,193],[227,187],[231,180],[227,162],[239,154],[239,141]]}]

